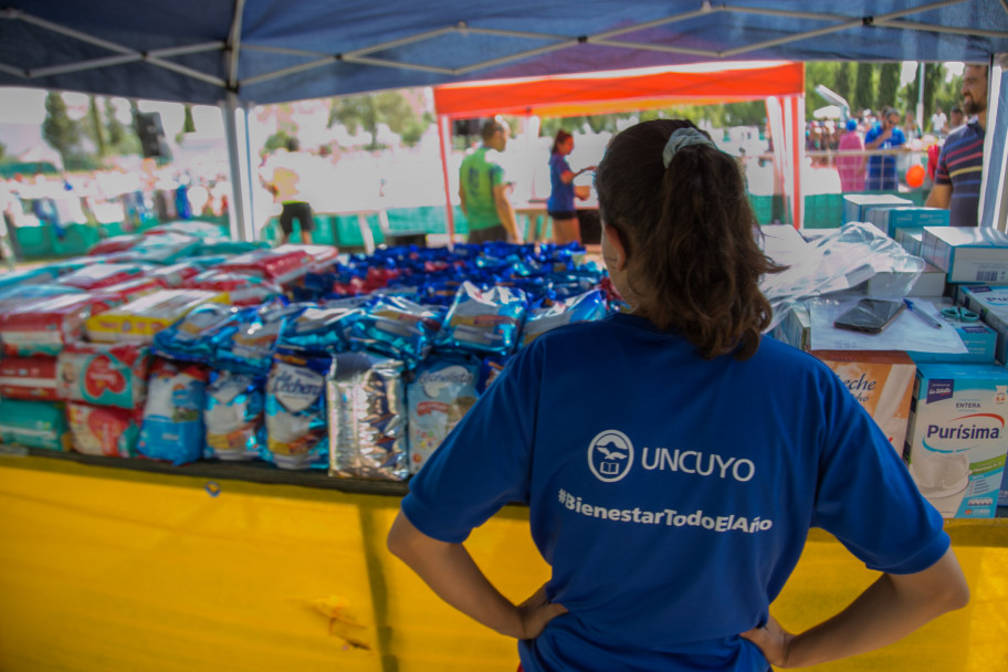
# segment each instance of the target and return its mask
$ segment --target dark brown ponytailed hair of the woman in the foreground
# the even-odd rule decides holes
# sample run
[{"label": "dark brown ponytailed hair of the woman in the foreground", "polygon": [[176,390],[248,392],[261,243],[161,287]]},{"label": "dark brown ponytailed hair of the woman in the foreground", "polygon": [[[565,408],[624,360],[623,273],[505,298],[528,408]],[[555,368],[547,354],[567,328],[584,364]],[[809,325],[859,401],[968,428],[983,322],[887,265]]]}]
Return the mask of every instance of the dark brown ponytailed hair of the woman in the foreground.
[{"label": "dark brown ponytailed hair of the woman in the foreground", "polygon": [[[759,279],[784,270],[757,243],[759,224],[738,161],[710,145],[662,151],[684,119],[617,135],[596,172],[599,212],[627,249],[640,313],[683,334],[706,358],[750,357],[770,322]],[[704,134],[706,135],[706,134]]]}]

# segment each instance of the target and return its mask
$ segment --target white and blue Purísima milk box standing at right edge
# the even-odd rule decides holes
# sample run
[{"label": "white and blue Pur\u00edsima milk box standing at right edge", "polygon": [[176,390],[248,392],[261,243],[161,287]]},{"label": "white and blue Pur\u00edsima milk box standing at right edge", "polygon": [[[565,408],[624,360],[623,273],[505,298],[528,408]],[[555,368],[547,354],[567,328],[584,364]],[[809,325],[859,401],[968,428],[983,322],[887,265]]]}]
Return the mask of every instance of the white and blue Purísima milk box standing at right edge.
[{"label": "white and blue Pur\u00edsima milk box standing at right edge", "polygon": [[918,364],[903,458],[946,518],[991,518],[1008,453],[1008,370]]}]

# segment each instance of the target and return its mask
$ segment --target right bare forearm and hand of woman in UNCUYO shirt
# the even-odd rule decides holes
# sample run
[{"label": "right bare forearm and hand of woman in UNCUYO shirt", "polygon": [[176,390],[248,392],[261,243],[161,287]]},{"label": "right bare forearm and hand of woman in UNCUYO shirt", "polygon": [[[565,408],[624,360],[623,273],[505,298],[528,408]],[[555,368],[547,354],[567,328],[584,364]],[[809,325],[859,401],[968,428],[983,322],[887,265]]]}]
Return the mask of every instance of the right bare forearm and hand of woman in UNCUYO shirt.
[{"label": "right bare forearm and hand of woman in UNCUYO shirt", "polygon": [[969,601],[969,587],[955,554],[916,574],[883,574],[858,599],[815,628],[791,634],[770,617],[742,637],[763,650],[770,664],[804,668],[881,649]]}]

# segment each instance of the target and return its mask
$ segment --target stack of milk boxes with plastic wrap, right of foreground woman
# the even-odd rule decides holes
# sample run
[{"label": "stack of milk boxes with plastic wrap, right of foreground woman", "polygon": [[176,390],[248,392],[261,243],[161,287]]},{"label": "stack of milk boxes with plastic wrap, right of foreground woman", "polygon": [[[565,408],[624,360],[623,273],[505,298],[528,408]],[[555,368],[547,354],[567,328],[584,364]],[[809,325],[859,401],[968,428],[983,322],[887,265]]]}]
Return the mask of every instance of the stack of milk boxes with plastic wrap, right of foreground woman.
[{"label": "stack of milk boxes with plastic wrap, right of foreground woman", "polygon": [[[850,262],[833,275],[854,280],[823,282],[821,292],[804,281],[792,290],[801,300],[780,302],[770,333],[840,376],[943,516],[994,517],[1008,506],[1008,237],[949,227],[946,211],[901,202],[860,208],[860,221],[878,224],[847,225],[868,241],[862,252],[833,244],[851,240],[844,227],[778,260],[816,265],[818,249],[839,250],[827,261]],[[874,263],[881,250],[891,267]],[[909,300],[911,308],[878,335],[837,329],[833,319],[862,298]]]}]

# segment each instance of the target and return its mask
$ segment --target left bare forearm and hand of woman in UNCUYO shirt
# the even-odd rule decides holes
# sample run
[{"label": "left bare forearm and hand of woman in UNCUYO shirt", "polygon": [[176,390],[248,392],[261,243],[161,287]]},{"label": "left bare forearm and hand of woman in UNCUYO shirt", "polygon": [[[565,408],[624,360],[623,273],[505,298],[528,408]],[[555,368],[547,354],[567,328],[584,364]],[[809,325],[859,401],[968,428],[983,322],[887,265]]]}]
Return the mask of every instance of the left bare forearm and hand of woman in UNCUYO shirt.
[{"label": "left bare forearm and hand of woman in UNCUYO shirt", "polygon": [[462,544],[447,544],[417,529],[399,512],[388,548],[417,573],[438,597],[487,628],[516,639],[538,637],[550,620],[566,613],[546,599],[545,586],[515,605],[493,587]]}]

